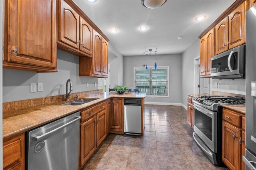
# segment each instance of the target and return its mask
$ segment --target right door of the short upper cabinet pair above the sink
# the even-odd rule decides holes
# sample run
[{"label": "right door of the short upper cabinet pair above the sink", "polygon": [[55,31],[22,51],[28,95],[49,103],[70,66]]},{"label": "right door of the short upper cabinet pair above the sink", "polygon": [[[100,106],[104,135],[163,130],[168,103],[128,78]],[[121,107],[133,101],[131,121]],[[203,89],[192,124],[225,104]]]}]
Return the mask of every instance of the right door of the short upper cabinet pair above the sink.
[{"label": "right door of the short upper cabinet pair above the sink", "polygon": [[79,49],[92,55],[92,26],[80,17],[80,46]]}]

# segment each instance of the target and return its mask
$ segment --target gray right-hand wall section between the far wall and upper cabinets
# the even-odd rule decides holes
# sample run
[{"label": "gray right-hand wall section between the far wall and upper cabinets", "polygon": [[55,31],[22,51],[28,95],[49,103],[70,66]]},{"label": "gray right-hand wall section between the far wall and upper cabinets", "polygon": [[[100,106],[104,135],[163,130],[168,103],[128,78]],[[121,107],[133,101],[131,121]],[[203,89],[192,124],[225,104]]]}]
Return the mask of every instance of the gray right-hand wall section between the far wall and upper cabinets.
[{"label": "gray right-hand wall section between the far wall and upper cabinets", "polygon": [[182,53],[182,104],[187,105],[187,93],[194,93],[194,58],[200,55],[199,39]]}]

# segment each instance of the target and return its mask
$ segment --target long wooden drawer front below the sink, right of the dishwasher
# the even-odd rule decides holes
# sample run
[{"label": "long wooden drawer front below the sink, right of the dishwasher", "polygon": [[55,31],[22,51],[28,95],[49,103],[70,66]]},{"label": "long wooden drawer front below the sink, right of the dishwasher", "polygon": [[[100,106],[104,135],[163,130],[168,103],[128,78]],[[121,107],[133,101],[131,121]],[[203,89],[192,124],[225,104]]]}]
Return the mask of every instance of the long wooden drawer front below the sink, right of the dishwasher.
[{"label": "long wooden drawer front below the sink, right of the dishwasher", "polygon": [[100,103],[90,109],[87,109],[85,111],[81,112],[81,122],[85,121],[86,119],[96,115],[96,113],[99,113],[100,111],[102,111],[103,109],[105,109],[107,106],[106,102]]}]

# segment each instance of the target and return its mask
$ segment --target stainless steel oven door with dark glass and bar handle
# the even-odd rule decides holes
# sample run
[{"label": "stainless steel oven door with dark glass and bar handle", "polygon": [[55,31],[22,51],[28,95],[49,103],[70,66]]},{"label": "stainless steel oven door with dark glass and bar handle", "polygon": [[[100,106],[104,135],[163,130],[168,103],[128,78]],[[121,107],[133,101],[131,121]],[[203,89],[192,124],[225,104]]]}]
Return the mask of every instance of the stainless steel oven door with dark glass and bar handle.
[{"label": "stainless steel oven door with dark glass and bar handle", "polygon": [[217,112],[194,103],[194,131],[212,152],[217,152]]}]

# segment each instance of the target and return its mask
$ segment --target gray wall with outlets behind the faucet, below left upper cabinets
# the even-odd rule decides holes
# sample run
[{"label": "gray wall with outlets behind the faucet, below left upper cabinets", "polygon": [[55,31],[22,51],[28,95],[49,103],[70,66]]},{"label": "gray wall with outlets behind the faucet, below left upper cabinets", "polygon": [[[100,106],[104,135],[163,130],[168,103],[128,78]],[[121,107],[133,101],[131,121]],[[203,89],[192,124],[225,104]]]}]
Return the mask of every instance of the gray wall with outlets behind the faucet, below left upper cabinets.
[{"label": "gray wall with outlets behind the faucet, below left upper cabinets", "polygon": [[[98,82],[104,79],[79,77],[79,58],[64,51],[57,51],[57,73],[36,73],[32,71],[3,70],[3,102],[62,95],[66,93],[66,81],[71,79],[74,91],[102,89]],[[86,83],[89,87],[86,87]],[[43,83],[43,91],[30,93],[30,83]],[[96,83],[96,87],[94,87]],[[104,86],[104,82],[103,82]]]}]

